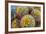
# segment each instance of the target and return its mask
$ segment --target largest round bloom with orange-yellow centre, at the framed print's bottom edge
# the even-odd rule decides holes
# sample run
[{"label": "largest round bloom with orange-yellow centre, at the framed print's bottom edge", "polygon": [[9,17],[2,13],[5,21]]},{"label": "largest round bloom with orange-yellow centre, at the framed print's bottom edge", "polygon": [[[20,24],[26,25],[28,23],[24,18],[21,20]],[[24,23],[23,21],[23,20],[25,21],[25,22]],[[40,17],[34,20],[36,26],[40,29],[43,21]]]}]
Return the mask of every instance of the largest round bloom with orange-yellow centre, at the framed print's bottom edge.
[{"label": "largest round bloom with orange-yellow centre, at the framed print's bottom edge", "polygon": [[35,19],[31,15],[25,15],[21,19],[20,24],[22,27],[34,27],[35,26]]}]

